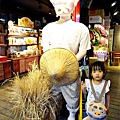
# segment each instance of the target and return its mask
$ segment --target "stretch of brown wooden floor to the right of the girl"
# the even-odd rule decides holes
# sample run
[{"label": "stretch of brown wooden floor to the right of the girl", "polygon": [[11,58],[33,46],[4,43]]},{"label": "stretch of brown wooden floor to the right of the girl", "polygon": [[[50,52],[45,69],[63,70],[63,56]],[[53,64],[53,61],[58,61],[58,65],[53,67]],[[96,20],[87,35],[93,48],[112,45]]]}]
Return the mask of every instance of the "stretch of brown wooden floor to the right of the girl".
[{"label": "stretch of brown wooden floor to the right of the girl", "polygon": [[107,120],[120,120],[120,66],[108,68],[105,78],[111,80],[110,113]]}]

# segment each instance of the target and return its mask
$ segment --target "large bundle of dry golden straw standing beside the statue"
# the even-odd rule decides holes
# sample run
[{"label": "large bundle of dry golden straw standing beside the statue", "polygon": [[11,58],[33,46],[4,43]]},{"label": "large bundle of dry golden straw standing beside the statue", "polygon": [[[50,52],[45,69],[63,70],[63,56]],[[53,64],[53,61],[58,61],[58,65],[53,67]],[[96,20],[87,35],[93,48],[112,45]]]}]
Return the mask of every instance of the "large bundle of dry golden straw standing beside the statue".
[{"label": "large bundle of dry golden straw standing beside the statue", "polygon": [[[47,120],[48,115],[55,117],[52,87],[47,78],[41,74],[35,62],[26,76],[15,76],[12,81],[11,99],[14,104],[14,119]],[[50,120],[50,118],[48,118]],[[52,119],[53,120],[53,119]]]}]

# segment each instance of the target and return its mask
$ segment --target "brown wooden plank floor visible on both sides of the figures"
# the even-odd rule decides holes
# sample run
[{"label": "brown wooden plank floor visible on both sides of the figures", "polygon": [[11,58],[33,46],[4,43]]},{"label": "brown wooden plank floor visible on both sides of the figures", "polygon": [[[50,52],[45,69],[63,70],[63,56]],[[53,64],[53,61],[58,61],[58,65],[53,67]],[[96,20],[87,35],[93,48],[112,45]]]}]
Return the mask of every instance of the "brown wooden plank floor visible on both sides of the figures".
[{"label": "brown wooden plank floor visible on both sides of the figures", "polygon": [[[120,120],[120,68],[110,67],[108,69],[105,78],[111,80],[111,102],[107,120]],[[11,114],[12,104],[10,104],[8,99],[10,91],[6,89],[9,86],[11,86],[9,82],[0,86],[0,120],[14,119],[14,115]],[[18,119],[16,118],[16,120]]]}]

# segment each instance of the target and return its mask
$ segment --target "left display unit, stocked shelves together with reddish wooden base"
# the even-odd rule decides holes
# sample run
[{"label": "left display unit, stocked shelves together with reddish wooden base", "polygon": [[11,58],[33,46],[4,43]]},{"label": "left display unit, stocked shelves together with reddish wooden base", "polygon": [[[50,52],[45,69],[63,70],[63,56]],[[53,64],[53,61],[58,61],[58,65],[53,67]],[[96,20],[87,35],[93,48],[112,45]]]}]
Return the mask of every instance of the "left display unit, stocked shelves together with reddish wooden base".
[{"label": "left display unit, stocked shelves together with reddish wooden base", "polygon": [[[3,29],[2,33],[0,33],[0,55],[6,55],[7,60],[0,62],[0,80],[13,77],[15,74],[27,72],[31,69],[30,64],[36,61],[36,64],[39,65],[40,59],[38,29],[8,24],[7,33],[3,33],[4,31]],[[34,52],[30,53],[29,50],[31,49]],[[25,54],[22,52],[25,52]]]}]

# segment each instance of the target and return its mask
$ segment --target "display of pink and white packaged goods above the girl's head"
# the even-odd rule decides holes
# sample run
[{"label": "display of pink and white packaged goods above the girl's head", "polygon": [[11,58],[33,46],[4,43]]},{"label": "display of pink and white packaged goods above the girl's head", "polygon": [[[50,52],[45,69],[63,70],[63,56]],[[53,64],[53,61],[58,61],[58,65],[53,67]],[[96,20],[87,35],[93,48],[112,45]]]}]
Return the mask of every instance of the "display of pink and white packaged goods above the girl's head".
[{"label": "display of pink and white packaged goods above the girl's head", "polygon": [[94,24],[94,28],[90,28],[90,39],[93,47],[93,57],[97,57],[99,61],[107,61],[108,59],[108,31],[101,24]]}]

